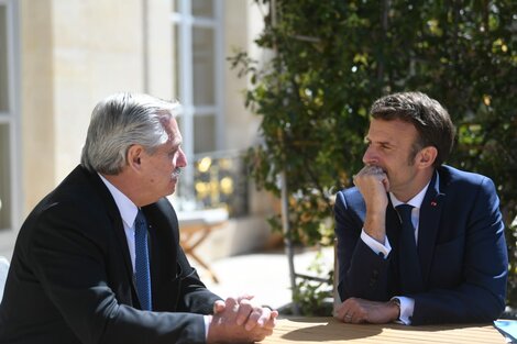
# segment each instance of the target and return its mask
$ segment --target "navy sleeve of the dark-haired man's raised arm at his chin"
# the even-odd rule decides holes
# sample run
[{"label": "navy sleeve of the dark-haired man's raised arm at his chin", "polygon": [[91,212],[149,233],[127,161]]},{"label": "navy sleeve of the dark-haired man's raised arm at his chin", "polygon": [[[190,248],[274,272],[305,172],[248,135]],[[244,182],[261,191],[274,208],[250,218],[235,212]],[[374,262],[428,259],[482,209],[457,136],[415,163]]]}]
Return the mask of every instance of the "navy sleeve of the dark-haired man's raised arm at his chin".
[{"label": "navy sleeve of the dark-haired man's raised arm at his chin", "polygon": [[360,206],[352,204],[349,195],[350,190],[338,192],[334,206],[340,298],[343,301],[350,297],[386,300],[389,257],[375,254],[361,240]]}]

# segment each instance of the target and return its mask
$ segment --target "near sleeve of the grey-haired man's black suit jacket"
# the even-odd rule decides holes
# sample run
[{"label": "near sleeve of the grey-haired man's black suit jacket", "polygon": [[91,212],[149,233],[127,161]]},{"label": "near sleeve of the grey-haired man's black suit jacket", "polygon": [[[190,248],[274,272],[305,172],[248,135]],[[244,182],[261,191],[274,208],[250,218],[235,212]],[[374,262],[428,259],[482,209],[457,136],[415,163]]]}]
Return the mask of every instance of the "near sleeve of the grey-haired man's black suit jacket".
[{"label": "near sleeve of the grey-haired man's black suit jacket", "polygon": [[[201,314],[141,311],[118,302],[109,287],[100,215],[73,202],[42,211],[26,255],[34,274],[81,343],[205,343]],[[81,210],[79,210],[81,209]],[[123,267],[121,267],[123,268]]]}]

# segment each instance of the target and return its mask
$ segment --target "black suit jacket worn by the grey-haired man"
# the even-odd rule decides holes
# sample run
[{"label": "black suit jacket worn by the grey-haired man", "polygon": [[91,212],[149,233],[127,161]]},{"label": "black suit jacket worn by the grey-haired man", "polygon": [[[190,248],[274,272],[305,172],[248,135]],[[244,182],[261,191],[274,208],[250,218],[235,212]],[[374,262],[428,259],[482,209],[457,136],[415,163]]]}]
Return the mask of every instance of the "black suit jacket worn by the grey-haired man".
[{"label": "black suit jacket worn by the grey-haired man", "polygon": [[162,199],[143,211],[155,311],[139,310],[111,193],[78,166],[20,230],[0,304],[0,343],[205,343],[201,314],[220,298],[187,262],[170,203]]}]

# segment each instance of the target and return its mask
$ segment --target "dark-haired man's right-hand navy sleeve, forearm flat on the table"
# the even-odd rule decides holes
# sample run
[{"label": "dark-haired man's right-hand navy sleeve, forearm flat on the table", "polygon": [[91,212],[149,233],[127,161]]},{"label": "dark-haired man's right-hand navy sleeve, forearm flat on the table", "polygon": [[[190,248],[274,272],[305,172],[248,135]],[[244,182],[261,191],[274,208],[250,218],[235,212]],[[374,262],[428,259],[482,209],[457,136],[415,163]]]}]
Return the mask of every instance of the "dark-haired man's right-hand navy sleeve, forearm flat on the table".
[{"label": "dark-haired man's right-hand navy sleeve, forearm flat on the table", "polygon": [[[411,319],[415,325],[490,322],[504,311],[508,257],[499,201],[492,180],[482,179],[472,204],[465,214],[461,282],[453,288],[410,296],[415,298]],[[446,217],[452,218],[453,213]],[[440,248],[454,251],[453,246]]]}]

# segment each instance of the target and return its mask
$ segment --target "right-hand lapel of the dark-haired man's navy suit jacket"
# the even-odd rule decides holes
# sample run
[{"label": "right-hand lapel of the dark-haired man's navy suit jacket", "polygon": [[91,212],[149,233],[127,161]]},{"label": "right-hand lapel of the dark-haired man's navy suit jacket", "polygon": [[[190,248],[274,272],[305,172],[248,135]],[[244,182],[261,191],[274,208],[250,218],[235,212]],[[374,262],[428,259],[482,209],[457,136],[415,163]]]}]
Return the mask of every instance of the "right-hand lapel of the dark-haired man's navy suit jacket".
[{"label": "right-hand lapel of the dark-haired man's navy suit jacket", "polygon": [[436,170],[420,208],[417,248],[425,286],[428,284],[429,279],[435,244],[443,209],[444,193],[440,192],[439,179],[438,170]]}]

